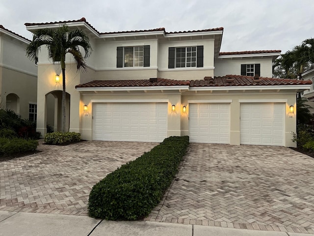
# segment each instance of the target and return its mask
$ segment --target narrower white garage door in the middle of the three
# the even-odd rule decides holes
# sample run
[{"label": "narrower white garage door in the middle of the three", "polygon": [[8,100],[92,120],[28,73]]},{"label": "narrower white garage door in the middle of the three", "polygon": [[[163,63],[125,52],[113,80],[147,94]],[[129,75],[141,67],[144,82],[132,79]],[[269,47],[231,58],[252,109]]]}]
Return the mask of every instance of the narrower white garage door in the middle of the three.
[{"label": "narrower white garage door in the middle of the three", "polygon": [[190,142],[229,144],[230,104],[189,104]]}]

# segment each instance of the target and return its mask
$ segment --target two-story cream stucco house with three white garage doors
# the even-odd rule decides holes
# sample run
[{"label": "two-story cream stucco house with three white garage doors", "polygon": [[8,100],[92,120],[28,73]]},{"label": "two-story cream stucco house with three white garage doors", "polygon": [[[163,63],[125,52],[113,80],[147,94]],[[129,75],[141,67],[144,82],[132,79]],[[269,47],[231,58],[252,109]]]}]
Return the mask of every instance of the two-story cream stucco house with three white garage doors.
[{"label": "two-story cream stucco house with three white garage doors", "polygon": [[[223,28],[101,33],[82,18],[26,23],[26,29],[63,24],[84,30],[93,47],[87,72],[78,72],[70,57],[66,65],[69,130],[83,139],[160,142],[189,135],[200,143],[295,146],[295,95],[311,82],[271,78],[280,51],[222,53]],[[54,77],[61,68],[45,48],[38,58],[37,130],[44,134],[51,118],[60,129],[62,84]]]}]

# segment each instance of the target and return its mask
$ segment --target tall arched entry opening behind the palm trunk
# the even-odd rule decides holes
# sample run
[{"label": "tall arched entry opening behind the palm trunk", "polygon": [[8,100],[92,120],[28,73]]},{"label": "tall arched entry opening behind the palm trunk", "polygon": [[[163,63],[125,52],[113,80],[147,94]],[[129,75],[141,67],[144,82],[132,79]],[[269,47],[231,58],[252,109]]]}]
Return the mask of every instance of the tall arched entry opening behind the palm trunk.
[{"label": "tall arched entry opening behind the palm trunk", "polygon": [[[70,97],[69,93],[65,95],[65,131],[70,127]],[[52,91],[46,94],[46,120],[47,132],[62,131],[62,91]]]}]

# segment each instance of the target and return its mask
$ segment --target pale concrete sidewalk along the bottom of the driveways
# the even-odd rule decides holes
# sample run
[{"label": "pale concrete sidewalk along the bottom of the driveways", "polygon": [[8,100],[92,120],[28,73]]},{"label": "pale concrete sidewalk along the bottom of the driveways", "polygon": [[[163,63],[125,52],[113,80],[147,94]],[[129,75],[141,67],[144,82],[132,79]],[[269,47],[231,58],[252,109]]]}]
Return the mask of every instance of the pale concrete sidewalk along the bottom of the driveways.
[{"label": "pale concrete sidewalk along the bottom of the driveways", "polygon": [[314,236],[88,216],[0,211],[0,236]]}]

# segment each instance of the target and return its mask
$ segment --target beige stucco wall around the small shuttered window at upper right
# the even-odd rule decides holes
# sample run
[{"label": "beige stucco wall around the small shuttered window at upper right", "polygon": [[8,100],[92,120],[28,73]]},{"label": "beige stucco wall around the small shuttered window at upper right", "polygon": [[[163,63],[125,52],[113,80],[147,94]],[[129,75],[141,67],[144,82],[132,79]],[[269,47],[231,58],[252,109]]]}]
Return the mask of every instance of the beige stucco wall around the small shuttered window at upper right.
[{"label": "beige stucco wall around the small shuttered window at upper right", "polygon": [[262,77],[272,78],[272,58],[215,59],[215,76],[241,75],[241,64],[261,64]]}]

